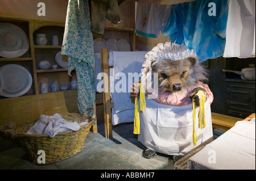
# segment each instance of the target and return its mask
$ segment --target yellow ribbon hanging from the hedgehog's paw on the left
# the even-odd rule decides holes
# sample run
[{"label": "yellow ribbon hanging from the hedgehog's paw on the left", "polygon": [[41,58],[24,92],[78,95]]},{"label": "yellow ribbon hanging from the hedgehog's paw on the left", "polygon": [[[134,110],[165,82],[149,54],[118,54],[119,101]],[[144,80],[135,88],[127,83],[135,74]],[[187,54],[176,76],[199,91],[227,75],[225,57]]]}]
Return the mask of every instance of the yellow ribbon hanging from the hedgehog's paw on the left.
[{"label": "yellow ribbon hanging from the hedgehog's paw on the left", "polygon": [[139,107],[141,107],[141,111],[146,109],[146,100],[145,100],[145,91],[144,87],[139,85],[139,104],[138,104],[138,98],[135,98],[135,112],[134,112],[134,128],[133,128],[133,133],[134,134],[139,134]]}]

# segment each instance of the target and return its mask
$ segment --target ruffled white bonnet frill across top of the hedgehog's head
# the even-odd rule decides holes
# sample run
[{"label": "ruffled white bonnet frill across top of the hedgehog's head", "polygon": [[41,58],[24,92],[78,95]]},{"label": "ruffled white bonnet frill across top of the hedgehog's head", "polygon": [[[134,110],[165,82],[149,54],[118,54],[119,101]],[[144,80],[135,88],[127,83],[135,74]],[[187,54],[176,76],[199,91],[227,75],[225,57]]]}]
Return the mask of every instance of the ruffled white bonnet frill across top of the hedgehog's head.
[{"label": "ruffled white bonnet frill across top of the hedgehog's head", "polygon": [[171,42],[166,42],[165,44],[159,43],[144,57],[145,61],[142,65],[143,69],[141,71],[144,74],[144,71],[147,69],[148,65],[150,65],[152,61],[181,60],[191,56],[197,57],[193,49],[188,49],[188,47],[184,44],[178,45]]}]

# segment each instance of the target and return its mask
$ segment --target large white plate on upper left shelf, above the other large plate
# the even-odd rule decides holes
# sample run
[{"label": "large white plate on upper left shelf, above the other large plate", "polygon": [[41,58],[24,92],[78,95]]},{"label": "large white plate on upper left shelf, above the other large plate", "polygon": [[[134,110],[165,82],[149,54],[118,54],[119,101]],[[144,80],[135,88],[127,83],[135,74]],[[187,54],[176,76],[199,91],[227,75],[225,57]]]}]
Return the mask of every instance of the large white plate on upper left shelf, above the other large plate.
[{"label": "large white plate on upper left shelf, above the other large plate", "polygon": [[23,56],[30,47],[26,33],[12,23],[0,23],[0,56],[14,58]]}]

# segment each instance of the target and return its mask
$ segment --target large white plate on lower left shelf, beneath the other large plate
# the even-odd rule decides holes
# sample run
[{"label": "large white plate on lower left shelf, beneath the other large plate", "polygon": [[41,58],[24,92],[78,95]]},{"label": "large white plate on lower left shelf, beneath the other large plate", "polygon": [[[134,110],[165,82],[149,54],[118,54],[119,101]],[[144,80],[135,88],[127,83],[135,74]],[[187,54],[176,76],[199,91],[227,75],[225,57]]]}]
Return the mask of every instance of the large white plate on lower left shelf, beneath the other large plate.
[{"label": "large white plate on lower left shelf, beneath the other large plate", "polygon": [[7,64],[0,68],[0,77],[2,77],[2,91],[0,95],[7,98],[16,98],[24,95],[30,90],[32,85],[32,76],[23,66],[16,64]]}]

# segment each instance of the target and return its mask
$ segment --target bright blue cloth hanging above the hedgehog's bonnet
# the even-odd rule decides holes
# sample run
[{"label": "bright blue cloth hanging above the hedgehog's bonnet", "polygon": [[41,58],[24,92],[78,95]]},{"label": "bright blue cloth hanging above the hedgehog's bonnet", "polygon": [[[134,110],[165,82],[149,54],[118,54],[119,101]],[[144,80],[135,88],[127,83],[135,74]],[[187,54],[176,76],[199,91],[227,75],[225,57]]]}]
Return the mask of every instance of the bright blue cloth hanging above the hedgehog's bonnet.
[{"label": "bright blue cloth hanging above the hedgehog's bonnet", "polygon": [[[209,13],[209,3],[216,5],[216,15]],[[228,0],[179,3],[171,7],[171,15],[161,31],[165,37],[170,36],[172,43],[187,45],[199,61],[205,61],[223,55],[227,19]]]}]

